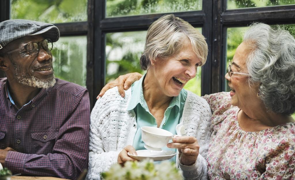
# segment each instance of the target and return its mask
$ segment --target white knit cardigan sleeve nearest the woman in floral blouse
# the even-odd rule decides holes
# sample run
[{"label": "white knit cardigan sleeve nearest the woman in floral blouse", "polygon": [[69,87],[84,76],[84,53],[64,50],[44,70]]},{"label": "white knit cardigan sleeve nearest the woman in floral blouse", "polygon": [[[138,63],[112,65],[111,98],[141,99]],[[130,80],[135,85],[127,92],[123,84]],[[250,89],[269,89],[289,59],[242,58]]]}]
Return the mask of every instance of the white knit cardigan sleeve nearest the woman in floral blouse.
[{"label": "white knit cardigan sleeve nearest the woman in floral blouse", "polygon": [[[186,104],[186,112],[183,115],[183,124],[189,135],[197,138],[200,146],[197,161],[192,166],[184,166],[178,161],[178,166],[183,171],[183,179],[201,179],[207,180],[207,153],[209,148],[209,141],[211,136],[210,120],[211,110],[209,104],[191,92],[188,92],[189,103]],[[187,124],[187,122],[190,122]],[[190,132],[191,131],[191,132]]]}]

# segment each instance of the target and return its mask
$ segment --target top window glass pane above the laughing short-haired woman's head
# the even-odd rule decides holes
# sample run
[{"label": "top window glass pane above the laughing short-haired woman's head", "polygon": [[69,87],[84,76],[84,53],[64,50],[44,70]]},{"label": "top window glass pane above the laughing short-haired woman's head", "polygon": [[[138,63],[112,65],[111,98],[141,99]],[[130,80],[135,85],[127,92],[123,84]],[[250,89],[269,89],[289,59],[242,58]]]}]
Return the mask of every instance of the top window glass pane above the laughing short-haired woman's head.
[{"label": "top window glass pane above the laughing short-haired woman's head", "polygon": [[107,17],[201,9],[201,0],[106,0]]}]

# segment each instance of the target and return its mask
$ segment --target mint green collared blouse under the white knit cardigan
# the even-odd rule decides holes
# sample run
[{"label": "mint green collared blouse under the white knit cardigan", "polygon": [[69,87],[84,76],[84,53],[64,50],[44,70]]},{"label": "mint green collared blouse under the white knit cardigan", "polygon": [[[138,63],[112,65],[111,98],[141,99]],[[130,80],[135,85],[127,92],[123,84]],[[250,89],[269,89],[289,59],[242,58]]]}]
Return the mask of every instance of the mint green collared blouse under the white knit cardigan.
[{"label": "mint green collared blouse under the white knit cardigan", "polygon": [[[153,126],[157,127],[157,122],[155,117],[150,113],[148,105],[143,97],[142,82],[145,75],[140,78],[140,80],[134,82],[131,86],[131,100],[128,105],[127,110],[134,110],[136,114],[137,121],[137,131],[133,141],[133,147],[135,150],[145,149],[145,143],[141,139],[141,127],[142,126]],[[170,131],[176,134],[176,125],[179,124],[180,118],[182,116],[183,106],[186,100],[187,91],[182,89],[178,96],[173,97],[168,108],[165,110],[164,118],[160,124],[159,128]],[[170,141],[171,142],[171,141]],[[176,149],[171,149],[165,146],[162,148],[166,151],[176,151]],[[175,162],[175,156],[170,159],[170,161]]]}]

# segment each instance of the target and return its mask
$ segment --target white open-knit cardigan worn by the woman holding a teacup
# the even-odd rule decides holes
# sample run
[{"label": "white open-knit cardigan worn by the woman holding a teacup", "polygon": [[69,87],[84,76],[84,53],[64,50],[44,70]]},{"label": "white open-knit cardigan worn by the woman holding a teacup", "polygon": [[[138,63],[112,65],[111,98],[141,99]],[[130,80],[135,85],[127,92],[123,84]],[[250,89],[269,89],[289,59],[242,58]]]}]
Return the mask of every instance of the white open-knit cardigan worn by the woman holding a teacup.
[{"label": "white open-knit cardigan worn by the woman holding a teacup", "polygon": [[[117,87],[106,91],[96,101],[91,112],[89,135],[89,167],[86,179],[100,179],[100,173],[117,163],[118,155],[127,145],[133,145],[137,131],[134,110],[127,111],[131,99],[131,88],[125,91],[125,97],[119,95]],[[179,152],[176,154],[176,166],[183,171],[184,179],[207,179],[207,151],[210,140],[211,110],[203,98],[187,92],[180,123],[186,130],[186,136],[197,138],[200,149],[197,161],[192,166],[179,163]]]}]

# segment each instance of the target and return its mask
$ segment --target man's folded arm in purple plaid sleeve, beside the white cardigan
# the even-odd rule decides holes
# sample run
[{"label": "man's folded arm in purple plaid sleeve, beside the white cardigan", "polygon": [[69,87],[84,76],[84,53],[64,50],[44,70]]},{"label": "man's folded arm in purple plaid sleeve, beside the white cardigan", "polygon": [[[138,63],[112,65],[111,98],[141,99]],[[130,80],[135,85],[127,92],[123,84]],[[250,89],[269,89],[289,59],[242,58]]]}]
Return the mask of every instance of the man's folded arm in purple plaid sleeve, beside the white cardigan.
[{"label": "man's folded arm in purple plaid sleeve, beside the white cardigan", "polygon": [[60,127],[52,153],[25,154],[9,151],[4,167],[12,173],[76,179],[87,168],[90,104],[86,90],[73,96],[68,119]]}]

